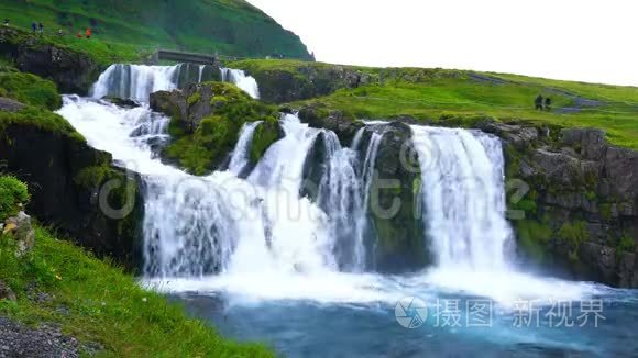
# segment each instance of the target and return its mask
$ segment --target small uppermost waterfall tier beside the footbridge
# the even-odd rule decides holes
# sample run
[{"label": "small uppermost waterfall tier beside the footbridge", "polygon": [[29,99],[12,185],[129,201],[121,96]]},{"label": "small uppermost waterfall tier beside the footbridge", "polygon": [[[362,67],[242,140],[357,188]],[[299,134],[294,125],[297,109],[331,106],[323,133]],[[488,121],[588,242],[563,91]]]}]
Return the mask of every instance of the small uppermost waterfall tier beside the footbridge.
[{"label": "small uppermost waterfall tier beside the footbridge", "polygon": [[[156,91],[170,91],[189,82],[219,80],[219,75],[210,66],[179,64],[175,66],[146,66],[116,64],[109,66],[91,88],[91,97],[100,99],[106,96],[147,102],[148,96]],[[244,71],[221,68],[223,81],[231,82],[258,99],[260,92],[254,78]]]}]

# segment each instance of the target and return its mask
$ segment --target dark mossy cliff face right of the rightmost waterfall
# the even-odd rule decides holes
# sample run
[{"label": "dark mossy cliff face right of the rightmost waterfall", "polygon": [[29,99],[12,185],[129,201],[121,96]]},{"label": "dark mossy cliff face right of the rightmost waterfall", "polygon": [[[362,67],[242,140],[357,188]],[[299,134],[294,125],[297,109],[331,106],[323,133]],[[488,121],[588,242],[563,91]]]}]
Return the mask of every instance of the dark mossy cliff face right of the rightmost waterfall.
[{"label": "dark mossy cliff face right of the rightmost waterfall", "polygon": [[508,179],[528,186],[522,198],[508,199],[525,212],[513,221],[522,257],[571,278],[638,287],[638,152],[612,146],[592,128],[524,146],[518,134],[497,134],[507,143]]}]

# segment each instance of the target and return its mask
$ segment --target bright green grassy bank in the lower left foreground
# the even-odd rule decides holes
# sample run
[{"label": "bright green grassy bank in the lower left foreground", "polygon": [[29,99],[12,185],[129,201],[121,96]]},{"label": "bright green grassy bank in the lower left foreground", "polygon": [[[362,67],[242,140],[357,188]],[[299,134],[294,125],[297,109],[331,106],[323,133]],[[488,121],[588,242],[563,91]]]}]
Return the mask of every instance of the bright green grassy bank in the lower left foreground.
[{"label": "bright green grassy bank in the lower left foreground", "polygon": [[[54,322],[80,342],[99,343],[105,357],[272,357],[262,345],[238,344],[183,307],[142,289],[130,276],[36,227],[35,247],[22,259],[9,236],[0,236],[0,279],[18,302],[0,301],[0,315],[25,324]],[[26,287],[50,294],[29,300]],[[66,313],[65,313],[66,312]]]}]

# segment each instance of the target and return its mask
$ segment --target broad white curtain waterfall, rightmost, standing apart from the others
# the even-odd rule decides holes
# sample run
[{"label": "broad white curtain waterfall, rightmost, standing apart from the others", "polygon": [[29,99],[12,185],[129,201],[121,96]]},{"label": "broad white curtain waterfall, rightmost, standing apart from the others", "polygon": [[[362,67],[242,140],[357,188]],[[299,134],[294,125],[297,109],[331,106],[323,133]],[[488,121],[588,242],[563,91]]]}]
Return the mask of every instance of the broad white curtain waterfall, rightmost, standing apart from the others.
[{"label": "broad white curtain waterfall, rightmost, standing apart from the others", "polygon": [[441,269],[505,271],[503,149],[481,132],[411,126],[421,166],[425,235]]}]

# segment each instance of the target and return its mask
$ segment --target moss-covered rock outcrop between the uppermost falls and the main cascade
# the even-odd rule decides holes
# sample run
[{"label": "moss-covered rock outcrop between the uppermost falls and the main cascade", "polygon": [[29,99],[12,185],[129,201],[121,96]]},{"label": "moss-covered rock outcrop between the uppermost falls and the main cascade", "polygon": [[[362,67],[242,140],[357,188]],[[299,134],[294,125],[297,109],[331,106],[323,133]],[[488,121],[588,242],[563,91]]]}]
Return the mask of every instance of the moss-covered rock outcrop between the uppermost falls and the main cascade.
[{"label": "moss-covered rock outcrop between the uppermost falls and the main cascade", "polygon": [[156,92],[151,96],[151,105],[172,119],[172,142],[163,150],[164,158],[194,175],[205,175],[223,166],[246,122],[263,122],[254,132],[250,150],[252,165],[284,135],[276,108],[252,99],[227,82],[204,82],[182,91]]}]

